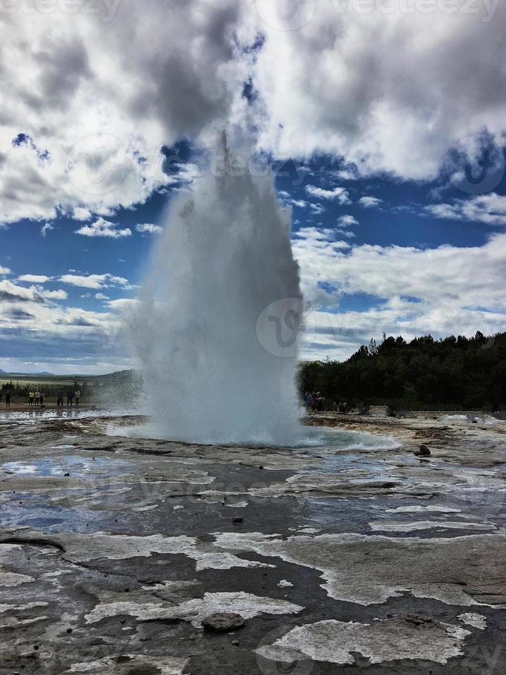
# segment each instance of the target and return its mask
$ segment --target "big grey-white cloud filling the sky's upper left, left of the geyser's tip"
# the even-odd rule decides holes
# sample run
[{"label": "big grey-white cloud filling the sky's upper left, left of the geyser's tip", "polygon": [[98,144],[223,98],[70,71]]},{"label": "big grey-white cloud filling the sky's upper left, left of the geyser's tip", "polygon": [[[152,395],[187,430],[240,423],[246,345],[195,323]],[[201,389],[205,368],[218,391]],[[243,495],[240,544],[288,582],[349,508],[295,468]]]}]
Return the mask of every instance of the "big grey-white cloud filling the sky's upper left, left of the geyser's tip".
[{"label": "big grey-white cloud filling the sky's upper left, left of the geyser's tip", "polygon": [[210,138],[243,105],[245,4],[3,12],[0,222],[107,217],[175,185],[162,147]]}]

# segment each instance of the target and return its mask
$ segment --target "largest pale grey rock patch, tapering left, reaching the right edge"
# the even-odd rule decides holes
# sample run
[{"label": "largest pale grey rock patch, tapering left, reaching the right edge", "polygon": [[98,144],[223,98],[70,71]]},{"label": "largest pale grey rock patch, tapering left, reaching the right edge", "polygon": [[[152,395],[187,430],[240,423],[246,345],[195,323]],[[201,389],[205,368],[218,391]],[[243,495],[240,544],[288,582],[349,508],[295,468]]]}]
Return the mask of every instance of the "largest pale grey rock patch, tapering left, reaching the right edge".
[{"label": "largest pale grey rock patch, tapering left, reaching the right edge", "polygon": [[410,592],[447,604],[506,607],[506,580],[496,563],[506,554],[504,534],[452,539],[321,534],[274,539],[259,532],[226,532],[215,539],[226,550],[254,551],[321,571],[323,588],[336,600],[373,605]]}]

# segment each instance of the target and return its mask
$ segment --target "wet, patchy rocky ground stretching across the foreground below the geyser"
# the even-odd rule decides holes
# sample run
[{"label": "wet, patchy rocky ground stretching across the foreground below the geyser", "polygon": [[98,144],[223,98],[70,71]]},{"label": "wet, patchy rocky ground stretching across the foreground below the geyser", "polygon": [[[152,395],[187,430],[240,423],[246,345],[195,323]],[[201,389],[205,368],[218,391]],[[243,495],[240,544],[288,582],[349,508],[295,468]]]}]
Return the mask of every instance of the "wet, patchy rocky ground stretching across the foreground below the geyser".
[{"label": "wet, patchy rocky ground stretching across the foreground below the geyser", "polygon": [[506,671],[505,422],[283,450],[63,414],[0,415],[1,675]]}]

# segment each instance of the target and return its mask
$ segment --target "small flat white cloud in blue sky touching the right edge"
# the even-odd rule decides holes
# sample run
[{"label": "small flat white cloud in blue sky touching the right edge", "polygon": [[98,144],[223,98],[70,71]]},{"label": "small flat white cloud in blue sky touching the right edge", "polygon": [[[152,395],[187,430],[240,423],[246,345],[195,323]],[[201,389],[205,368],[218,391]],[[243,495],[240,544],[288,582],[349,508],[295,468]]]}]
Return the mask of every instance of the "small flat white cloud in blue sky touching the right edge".
[{"label": "small flat white cloud in blue sky touching the right edge", "polygon": [[495,192],[468,200],[454,199],[450,204],[434,204],[425,211],[436,218],[472,220],[486,225],[506,225],[506,196]]}]

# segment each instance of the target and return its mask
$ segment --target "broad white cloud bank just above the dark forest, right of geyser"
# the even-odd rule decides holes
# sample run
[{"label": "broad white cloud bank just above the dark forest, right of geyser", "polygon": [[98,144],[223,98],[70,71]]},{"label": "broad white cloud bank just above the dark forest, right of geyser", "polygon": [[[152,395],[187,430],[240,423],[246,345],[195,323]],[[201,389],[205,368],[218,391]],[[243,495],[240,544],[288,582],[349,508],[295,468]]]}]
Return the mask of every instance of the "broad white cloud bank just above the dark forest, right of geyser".
[{"label": "broad white cloud bank just above the dark forest, right of geyser", "polygon": [[[417,249],[335,242],[335,231],[308,228],[293,241],[304,297],[313,310],[305,357],[347,357],[383,331],[474,335],[506,331],[506,234],[481,247]],[[330,291],[328,290],[330,289]],[[335,313],[343,295],[375,299],[366,311]]]}]

